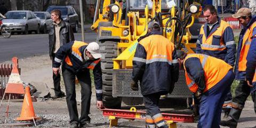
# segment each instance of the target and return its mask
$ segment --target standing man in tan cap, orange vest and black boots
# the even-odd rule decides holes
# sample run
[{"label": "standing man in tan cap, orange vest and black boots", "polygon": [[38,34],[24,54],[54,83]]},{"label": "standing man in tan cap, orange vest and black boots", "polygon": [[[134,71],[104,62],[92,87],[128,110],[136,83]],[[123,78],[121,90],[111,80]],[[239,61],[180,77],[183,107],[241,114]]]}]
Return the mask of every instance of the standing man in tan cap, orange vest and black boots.
[{"label": "standing man in tan cap, orange vest and black boots", "polygon": [[[253,58],[253,54],[249,54],[248,51],[250,45],[256,43],[256,38],[254,38],[254,35],[256,35],[256,17],[252,17],[251,10],[246,7],[239,9],[236,14],[232,15],[232,17],[237,18],[239,22],[243,25],[243,29],[239,35],[239,42],[237,47],[238,52],[236,55],[237,60],[235,66],[235,79],[240,82],[236,87],[235,97],[233,98],[232,108],[230,110],[229,117],[221,121],[220,124],[223,126],[236,127],[239,117],[242,113],[245,101],[247,97],[249,97],[251,92],[251,86],[249,86],[249,84],[247,84],[245,80],[246,75],[249,75],[249,73],[246,73],[246,69],[249,69],[246,68],[246,62],[251,63],[253,61],[249,61],[249,59],[255,59],[255,57]],[[251,70],[251,73],[254,70],[255,68]],[[254,72],[250,76],[250,82],[253,75]],[[253,96],[255,96],[255,94],[252,93],[252,97]],[[254,98],[252,99],[254,100]]]}]

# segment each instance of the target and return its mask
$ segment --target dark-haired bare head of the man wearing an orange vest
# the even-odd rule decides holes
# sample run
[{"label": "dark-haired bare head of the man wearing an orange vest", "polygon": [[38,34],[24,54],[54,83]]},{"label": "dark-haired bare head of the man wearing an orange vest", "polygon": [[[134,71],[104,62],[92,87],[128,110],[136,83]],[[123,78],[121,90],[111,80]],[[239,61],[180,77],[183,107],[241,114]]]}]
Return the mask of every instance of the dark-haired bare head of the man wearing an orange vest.
[{"label": "dark-haired bare head of the man wearing an orange vest", "polygon": [[213,24],[218,21],[217,10],[213,5],[205,5],[203,12],[207,23]]}]

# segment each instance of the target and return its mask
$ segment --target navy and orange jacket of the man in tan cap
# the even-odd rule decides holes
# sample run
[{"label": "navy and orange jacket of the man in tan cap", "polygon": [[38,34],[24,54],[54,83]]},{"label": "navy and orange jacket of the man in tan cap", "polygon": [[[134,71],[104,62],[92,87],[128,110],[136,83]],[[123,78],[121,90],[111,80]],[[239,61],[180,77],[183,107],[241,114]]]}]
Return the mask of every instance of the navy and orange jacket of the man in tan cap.
[{"label": "navy and orange jacket of the man in tan cap", "polygon": [[239,35],[239,42],[237,47],[237,55],[236,55],[236,66],[235,66],[235,74],[237,80],[245,80],[245,69],[247,63],[247,54],[249,52],[249,48],[252,42],[252,34],[253,29],[256,27],[256,17],[254,16],[248,25],[241,31]]}]

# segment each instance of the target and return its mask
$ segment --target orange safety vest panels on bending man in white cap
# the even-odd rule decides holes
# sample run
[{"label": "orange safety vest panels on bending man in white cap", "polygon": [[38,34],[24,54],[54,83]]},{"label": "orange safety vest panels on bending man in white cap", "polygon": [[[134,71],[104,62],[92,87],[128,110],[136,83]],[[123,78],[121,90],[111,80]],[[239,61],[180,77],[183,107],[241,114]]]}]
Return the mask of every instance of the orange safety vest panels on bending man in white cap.
[{"label": "orange safety vest panels on bending man in white cap", "polygon": [[[79,51],[79,48],[84,46],[84,45],[88,45],[87,43],[81,42],[81,41],[74,41],[74,44],[72,45],[71,51],[78,60],[80,60],[81,62],[83,62],[83,58],[82,58],[82,54]],[[70,58],[68,57],[68,55],[65,58],[65,62],[67,63],[67,65],[69,66],[73,66],[73,63],[71,62]],[[93,61],[87,68],[88,69],[94,69],[94,67],[100,62],[100,59]]]}]

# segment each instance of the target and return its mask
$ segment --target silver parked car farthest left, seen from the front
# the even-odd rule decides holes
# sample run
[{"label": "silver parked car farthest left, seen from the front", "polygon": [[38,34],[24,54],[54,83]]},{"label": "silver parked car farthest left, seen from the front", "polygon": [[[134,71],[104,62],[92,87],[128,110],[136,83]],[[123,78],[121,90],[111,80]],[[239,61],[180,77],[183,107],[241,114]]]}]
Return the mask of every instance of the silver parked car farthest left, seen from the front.
[{"label": "silver parked car farthest left, seen from the front", "polygon": [[23,34],[28,34],[31,31],[35,31],[36,34],[40,32],[40,19],[31,11],[8,11],[5,17],[3,24],[8,26],[11,31],[23,32]]}]

